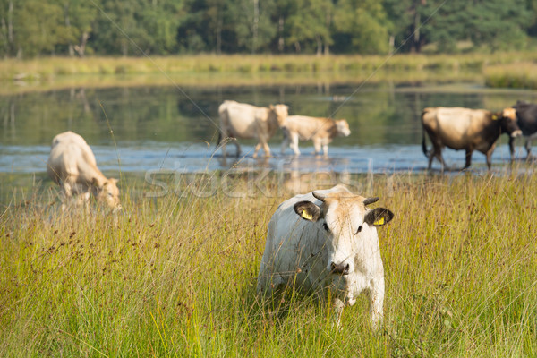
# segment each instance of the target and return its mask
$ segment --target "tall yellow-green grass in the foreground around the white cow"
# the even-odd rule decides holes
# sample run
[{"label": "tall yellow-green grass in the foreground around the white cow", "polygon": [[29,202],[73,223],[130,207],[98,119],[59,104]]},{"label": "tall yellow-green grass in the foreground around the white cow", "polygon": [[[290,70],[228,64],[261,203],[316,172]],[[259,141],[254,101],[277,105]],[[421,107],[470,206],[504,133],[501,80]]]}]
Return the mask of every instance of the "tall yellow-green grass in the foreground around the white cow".
[{"label": "tall yellow-green grass in the foreground around the white cow", "polygon": [[379,332],[365,298],[345,309],[339,330],[329,305],[309,297],[260,302],[268,220],[291,196],[274,177],[260,186],[276,196],[242,199],[220,190],[149,198],[158,187],[124,177],[118,217],[95,205],[63,214],[42,176],[10,178],[1,187],[2,356],[537,354],[535,175],[357,178],[396,214],[379,229]]}]

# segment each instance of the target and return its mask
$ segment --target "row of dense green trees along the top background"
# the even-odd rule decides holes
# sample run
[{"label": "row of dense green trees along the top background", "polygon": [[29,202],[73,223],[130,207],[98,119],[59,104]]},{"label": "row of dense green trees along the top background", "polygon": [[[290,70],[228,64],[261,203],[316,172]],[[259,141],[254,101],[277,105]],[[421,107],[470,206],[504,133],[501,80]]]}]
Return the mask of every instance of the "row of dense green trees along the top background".
[{"label": "row of dense green trees along the top background", "polygon": [[0,55],[533,48],[537,0],[0,0]]}]

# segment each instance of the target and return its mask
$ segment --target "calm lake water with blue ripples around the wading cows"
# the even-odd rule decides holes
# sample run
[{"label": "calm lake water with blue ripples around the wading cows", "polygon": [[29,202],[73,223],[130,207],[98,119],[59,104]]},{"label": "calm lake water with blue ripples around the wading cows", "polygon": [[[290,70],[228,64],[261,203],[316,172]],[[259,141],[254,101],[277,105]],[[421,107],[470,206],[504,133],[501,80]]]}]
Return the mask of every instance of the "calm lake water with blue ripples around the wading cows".
[{"label": "calm lake water with blue ripples around the wading cows", "polygon": [[[423,156],[420,115],[424,107],[471,107],[499,110],[516,100],[536,101],[537,92],[486,90],[479,84],[356,84],[317,86],[141,87],[72,89],[0,97],[0,171],[46,171],[55,134],[81,134],[105,172],[175,170],[197,172],[231,166],[266,166],[303,172],[328,170],[364,173],[421,171]],[[241,141],[243,157],[234,163],[215,152],[217,108],[225,99],[258,106],[285,103],[290,115],[345,118],[351,135],[337,138],[328,158],[312,155],[310,142],[301,142],[303,155],[280,154],[282,134],[269,142],[274,158],[251,158],[255,141]],[[111,130],[113,134],[111,134]],[[519,142],[521,144],[521,142]],[[428,146],[430,143],[428,141]],[[535,150],[535,149],[533,149]],[[262,152],[261,152],[262,153]],[[522,147],[519,157],[525,156]],[[446,149],[452,166],[463,166],[463,151]],[[507,136],[500,137],[492,157],[495,170],[509,158]],[[433,166],[439,168],[439,163]],[[473,168],[485,168],[485,156],[473,153]]]}]

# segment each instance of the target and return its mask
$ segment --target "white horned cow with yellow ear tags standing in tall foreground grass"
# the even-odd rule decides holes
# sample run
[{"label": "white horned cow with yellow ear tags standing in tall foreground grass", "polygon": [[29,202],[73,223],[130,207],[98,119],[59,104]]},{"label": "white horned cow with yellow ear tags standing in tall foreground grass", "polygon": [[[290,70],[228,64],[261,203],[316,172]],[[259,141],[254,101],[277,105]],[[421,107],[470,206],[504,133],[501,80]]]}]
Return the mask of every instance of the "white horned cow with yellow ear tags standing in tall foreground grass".
[{"label": "white horned cow with yellow ear tags standing in tall foreground grass", "polygon": [[373,326],[382,319],[384,268],[377,227],[394,214],[367,209],[379,198],[363,198],[337,185],[296,195],[284,201],[268,223],[257,291],[277,294],[294,286],[304,294],[328,291],[339,324],[345,304],[354,304],[362,291],[370,294]]}]

